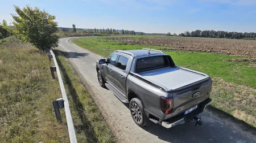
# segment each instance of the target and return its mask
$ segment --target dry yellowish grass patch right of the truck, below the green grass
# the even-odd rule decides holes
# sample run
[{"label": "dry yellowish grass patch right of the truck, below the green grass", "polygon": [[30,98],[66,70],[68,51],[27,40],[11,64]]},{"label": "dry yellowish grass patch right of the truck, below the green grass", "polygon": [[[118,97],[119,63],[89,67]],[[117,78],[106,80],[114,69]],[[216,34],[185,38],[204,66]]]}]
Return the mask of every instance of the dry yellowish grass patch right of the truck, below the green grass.
[{"label": "dry yellowish grass patch right of the truck, below the green grass", "polygon": [[256,89],[213,79],[212,106],[256,127]]}]

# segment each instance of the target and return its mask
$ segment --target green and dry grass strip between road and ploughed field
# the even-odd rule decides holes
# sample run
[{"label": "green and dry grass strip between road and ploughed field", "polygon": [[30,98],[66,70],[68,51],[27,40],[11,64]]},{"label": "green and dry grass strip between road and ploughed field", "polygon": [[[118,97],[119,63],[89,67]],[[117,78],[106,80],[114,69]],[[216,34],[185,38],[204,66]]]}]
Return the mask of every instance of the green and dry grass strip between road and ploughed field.
[{"label": "green and dry grass strip between road and ploughed field", "polygon": [[[163,48],[114,42],[108,38],[74,38],[71,42],[104,57],[115,50]],[[176,65],[204,72],[213,77],[212,105],[256,127],[254,120],[256,118],[256,67],[247,62],[228,61],[244,57],[196,51],[166,51],[165,53],[171,55]]]}]

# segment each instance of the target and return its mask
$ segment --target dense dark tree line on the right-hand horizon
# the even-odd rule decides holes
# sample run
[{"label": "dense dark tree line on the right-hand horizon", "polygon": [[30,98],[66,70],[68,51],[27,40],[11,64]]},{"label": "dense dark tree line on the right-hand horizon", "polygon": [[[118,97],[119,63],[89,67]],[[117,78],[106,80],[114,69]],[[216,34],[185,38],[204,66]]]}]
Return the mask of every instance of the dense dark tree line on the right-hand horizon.
[{"label": "dense dark tree line on the right-hand horizon", "polygon": [[179,34],[179,36],[183,37],[205,37],[205,38],[232,38],[232,39],[254,39],[256,37],[256,33],[254,32],[226,32],[226,31],[185,31],[184,33]]}]

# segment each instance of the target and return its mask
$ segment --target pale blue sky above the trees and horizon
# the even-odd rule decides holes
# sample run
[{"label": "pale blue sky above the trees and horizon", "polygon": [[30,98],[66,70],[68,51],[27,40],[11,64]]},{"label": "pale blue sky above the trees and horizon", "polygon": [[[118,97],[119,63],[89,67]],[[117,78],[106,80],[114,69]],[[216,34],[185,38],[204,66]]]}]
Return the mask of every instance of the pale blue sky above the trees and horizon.
[{"label": "pale blue sky above the trees and horizon", "polygon": [[221,30],[256,32],[256,0],[0,0],[0,20],[11,22],[13,5],[56,16],[59,27],[115,28],[147,33]]}]

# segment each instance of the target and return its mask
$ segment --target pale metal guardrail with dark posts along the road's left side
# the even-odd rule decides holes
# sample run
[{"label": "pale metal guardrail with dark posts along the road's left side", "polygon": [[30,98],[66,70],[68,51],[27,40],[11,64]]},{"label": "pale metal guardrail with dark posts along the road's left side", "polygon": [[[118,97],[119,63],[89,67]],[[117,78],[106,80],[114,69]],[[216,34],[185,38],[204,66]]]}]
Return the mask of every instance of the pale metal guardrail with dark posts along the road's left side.
[{"label": "pale metal guardrail with dark posts along the road's left side", "polygon": [[67,94],[65,92],[63,80],[62,80],[61,75],[60,75],[59,66],[58,66],[57,60],[55,58],[55,54],[53,53],[52,49],[49,49],[49,60],[51,60],[51,58],[53,59],[53,62],[55,64],[55,66],[50,67],[52,78],[55,79],[54,71],[56,71],[57,76],[58,76],[58,80],[59,80],[59,84],[60,84],[61,94],[62,94],[62,97],[63,97],[63,99],[60,98],[60,99],[57,99],[56,101],[52,102],[53,108],[55,110],[56,118],[57,118],[58,122],[61,122],[59,109],[64,107],[65,108],[65,115],[66,115],[66,119],[67,119],[67,124],[68,124],[69,140],[72,143],[73,142],[77,143],[76,132],[75,132],[75,128],[74,128],[74,125],[73,125],[71,111],[70,111],[69,103],[68,103],[68,97],[67,97]]}]

